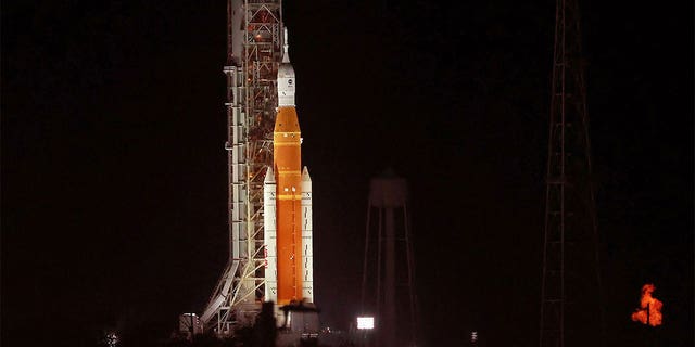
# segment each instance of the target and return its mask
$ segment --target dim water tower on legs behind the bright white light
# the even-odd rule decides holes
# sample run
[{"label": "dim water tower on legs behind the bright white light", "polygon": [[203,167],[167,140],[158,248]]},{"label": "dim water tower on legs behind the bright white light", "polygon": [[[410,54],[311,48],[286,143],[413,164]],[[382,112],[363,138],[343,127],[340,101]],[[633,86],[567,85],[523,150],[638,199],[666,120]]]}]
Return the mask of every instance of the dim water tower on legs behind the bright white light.
[{"label": "dim water tower on legs behind the bright white light", "polygon": [[388,169],[371,179],[365,232],[362,310],[374,314],[378,346],[414,346],[416,296],[406,180]]}]

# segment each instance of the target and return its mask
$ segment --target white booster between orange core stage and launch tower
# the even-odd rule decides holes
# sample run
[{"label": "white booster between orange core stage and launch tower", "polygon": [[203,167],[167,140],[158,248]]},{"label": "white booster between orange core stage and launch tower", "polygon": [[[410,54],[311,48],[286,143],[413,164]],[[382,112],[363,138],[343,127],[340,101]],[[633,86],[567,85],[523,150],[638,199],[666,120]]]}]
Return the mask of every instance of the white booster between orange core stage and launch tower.
[{"label": "white booster between orange core stage and launch tower", "polygon": [[277,221],[275,216],[275,175],[268,167],[263,182],[263,255],[265,267],[265,300],[278,301]]}]

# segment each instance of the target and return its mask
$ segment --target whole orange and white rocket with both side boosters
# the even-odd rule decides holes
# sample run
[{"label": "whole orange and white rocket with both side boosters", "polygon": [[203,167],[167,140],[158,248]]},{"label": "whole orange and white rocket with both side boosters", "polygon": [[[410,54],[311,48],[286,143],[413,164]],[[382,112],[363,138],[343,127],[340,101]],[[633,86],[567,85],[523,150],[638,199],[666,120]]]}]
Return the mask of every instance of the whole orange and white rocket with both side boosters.
[{"label": "whole orange and white rocket with both side boosters", "polygon": [[314,301],[312,179],[302,169],[302,138],[294,105],[295,76],[285,52],[278,68],[273,167],[264,180],[265,300],[278,306]]}]

